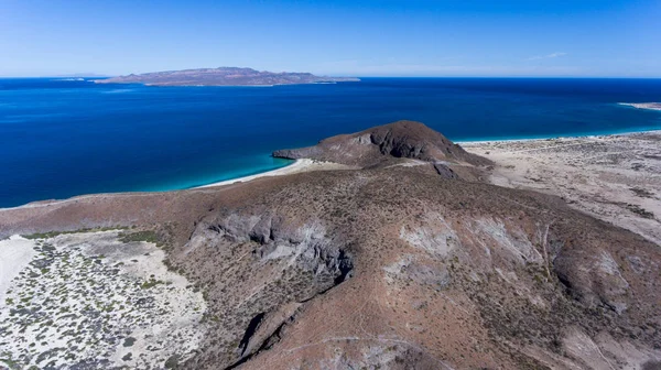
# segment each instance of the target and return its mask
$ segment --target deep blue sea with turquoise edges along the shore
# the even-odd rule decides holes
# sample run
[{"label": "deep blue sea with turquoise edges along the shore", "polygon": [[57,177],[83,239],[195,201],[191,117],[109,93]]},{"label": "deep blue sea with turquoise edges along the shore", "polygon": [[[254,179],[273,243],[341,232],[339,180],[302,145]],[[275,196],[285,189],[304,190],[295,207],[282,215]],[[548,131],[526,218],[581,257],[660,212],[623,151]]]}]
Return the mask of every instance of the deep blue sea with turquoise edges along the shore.
[{"label": "deep blue sea with turquoise edges along the shore", "polygon": [[277,149],[418,120],[452,140],[661,129],[661,79],[365,78],[275,87],[0,79],[0,207],[188,188],[284,166]]}]

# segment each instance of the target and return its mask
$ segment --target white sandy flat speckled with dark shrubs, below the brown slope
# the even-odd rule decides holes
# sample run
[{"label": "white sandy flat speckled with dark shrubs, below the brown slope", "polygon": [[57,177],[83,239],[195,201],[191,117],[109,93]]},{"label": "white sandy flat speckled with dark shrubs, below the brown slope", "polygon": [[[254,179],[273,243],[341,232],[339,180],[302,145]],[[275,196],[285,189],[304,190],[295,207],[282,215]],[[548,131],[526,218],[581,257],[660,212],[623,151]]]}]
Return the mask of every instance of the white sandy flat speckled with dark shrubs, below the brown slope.
[{"label": "white sandy flat speckled with dark shrubs, below the brown slope", "polygon": [[155,244],[120,239],[98,231],[30,241],[34,253],[0,305],[0,358],[90,369],[191,358],[206,331],[202,293],[167,271]]}]

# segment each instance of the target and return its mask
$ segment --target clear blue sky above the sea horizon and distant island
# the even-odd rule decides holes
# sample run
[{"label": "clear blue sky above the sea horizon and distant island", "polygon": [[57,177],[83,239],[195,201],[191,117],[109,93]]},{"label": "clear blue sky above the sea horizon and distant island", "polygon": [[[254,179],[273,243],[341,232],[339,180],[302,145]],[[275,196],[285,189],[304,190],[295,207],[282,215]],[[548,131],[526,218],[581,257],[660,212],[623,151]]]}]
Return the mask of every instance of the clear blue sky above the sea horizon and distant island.
[{"label": "clear blue sky above the sea horizon and distant island", "polygon": [[0,0],[0,76],[661,77],[660,0]]}]

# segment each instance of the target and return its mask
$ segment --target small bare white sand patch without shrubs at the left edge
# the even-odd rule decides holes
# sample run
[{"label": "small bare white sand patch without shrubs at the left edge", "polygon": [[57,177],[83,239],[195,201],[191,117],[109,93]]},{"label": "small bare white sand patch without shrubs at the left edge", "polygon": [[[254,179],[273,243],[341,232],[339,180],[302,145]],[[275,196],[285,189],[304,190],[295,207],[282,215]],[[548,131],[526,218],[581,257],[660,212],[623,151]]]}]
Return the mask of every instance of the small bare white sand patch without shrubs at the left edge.
[{"label": "small bare white sand patch without shrubs at the left edge", "polygon": [[12,279],[17,278],[36,254],[34,246],[34,241],[20,236],[0,240],[0,306],[4,304],[4,292],[11,285]]}]

